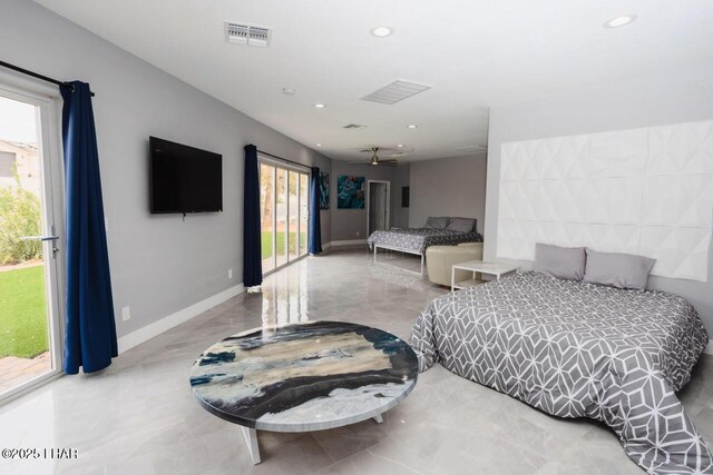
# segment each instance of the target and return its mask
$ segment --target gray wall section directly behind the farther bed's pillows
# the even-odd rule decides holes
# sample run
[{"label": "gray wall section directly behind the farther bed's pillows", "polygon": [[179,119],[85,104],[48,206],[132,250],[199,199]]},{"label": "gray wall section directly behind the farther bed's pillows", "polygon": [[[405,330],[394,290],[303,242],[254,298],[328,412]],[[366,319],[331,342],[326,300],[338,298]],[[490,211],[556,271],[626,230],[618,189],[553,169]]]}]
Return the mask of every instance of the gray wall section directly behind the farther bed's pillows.
[{"label": "gray wall section directly behind the farther bed's pillows", "polygon": [[478,219],[482,232],[486,164],[485,154],[412,162],[410,227],[423,226],[429,216],[459,216]]}]

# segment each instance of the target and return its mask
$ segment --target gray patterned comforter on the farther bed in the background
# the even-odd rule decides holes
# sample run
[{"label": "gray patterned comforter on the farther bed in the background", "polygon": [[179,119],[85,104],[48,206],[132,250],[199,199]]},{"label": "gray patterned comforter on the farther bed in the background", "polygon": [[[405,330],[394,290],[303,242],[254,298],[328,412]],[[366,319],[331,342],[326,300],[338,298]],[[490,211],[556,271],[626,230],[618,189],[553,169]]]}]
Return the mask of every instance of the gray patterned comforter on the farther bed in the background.
[{"label": "gray patterned comforter on the farther bed in the background", "polygon": [[458,232],[445,229],[410,228],[392,229],[389,231],[373,231],[367,243],[373,249],[375,245],[384,245],[408,250],[423,256],[429,246],[456,246],[461,243],[479,243],[479,232]]}]

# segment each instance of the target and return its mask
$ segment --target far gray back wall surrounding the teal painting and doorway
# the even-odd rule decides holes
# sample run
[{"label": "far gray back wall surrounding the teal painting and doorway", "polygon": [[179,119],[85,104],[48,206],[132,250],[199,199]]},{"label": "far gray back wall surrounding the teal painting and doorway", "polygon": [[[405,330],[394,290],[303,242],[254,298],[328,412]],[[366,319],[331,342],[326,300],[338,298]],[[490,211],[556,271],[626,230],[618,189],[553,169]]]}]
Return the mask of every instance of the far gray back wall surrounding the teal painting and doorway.
[{"label": "far gray back wall surrounding the teal painting and doorway", "polygon": [[[398,167],[397,167],[398,168]],[[391,201],[393,202],[393,170],[391,167],[372,167],[369,165],[349,165],[345,161],[332,161],[332,175],[330,176],[330,211],[332,215],[332,241],[367,239],[367,208],[364,209],[338,209],[336,208],[336,177],[340,175],[353,175],[367,177],[369,180],[384,180],[391,182]],[[322,224],[324,226],[324,224]],[[393,226],[393,219],[390,226]]]}]

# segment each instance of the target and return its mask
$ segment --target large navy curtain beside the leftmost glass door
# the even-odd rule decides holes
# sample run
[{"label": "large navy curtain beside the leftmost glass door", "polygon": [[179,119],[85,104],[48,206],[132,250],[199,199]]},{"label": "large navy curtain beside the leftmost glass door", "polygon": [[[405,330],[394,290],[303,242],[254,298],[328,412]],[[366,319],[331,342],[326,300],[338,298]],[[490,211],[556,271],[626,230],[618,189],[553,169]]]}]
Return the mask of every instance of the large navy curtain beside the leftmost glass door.
[{"label": "large navy curtain beside the leftmost glass door", "polygon": [[117,356],[99,152],[85,82],[61,88],[67,224],[65,373],[104,369]]}]

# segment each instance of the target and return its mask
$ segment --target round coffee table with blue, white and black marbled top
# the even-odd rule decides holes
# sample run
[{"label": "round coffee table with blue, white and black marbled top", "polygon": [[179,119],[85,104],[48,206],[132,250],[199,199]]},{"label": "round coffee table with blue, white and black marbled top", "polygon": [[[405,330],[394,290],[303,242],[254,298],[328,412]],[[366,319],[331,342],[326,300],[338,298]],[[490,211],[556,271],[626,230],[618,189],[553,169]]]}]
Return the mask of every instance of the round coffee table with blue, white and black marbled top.
[{"label": "round coffee table with blue, white and black marbled top", "polygon": [[211,346],[191,369],[201,405],[241,426],[255,464],[256,431],[381,423],[417,378],[418,360],[406,342],[342,321],[253,328]]}]

